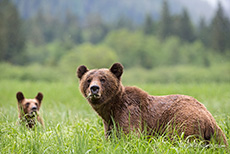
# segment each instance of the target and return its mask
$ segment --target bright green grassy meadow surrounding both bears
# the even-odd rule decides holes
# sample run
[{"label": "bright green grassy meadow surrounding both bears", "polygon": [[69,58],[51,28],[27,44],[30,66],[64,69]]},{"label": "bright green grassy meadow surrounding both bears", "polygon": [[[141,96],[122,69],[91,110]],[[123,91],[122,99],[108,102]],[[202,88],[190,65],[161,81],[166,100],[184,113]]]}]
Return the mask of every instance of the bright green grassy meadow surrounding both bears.
[{"label": "bright green grassy meadow surrounding both bears", "polygon": [[[230,144],[230,84],[137,84],[151,95],[185,94],[202,102],[215,117]],[[27,130],[16,125],[16,92],[26,98],[44,94],[41,115],[45,129]],[[0,153],[228,153],[225,148],[186,140],[144,135],[104,138],[102,120],[74,82],[0,81]]]}]

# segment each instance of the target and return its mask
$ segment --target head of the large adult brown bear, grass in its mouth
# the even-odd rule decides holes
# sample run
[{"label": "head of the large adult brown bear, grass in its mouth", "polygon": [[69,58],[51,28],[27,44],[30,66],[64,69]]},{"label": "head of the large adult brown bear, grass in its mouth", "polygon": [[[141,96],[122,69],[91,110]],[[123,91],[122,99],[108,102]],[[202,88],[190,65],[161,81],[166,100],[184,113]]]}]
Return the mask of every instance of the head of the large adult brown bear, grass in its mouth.
[{"label": "head of the large adult brown bear, grass in its mouth", "polygon": [[80,90],[93,106],[107,103],[122,88],[121,75],[123,66],[115,63],[110,69],[88,70],[86,66],[79,66],[77,76],[80,79]]}]

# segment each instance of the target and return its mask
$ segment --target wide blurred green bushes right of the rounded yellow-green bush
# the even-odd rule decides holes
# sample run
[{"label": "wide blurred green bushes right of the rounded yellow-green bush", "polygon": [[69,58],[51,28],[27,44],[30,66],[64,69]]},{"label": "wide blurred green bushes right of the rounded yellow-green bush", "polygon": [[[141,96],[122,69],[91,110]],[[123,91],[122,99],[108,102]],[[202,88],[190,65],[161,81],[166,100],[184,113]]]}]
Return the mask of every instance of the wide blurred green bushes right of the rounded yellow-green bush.
[{"label": "wide blurred green bushes right of the rounded yellow-green bush", "polygon": [[204,47],[200,41],[184,43],[177,37],[168,37],[160,42],[154,36],[127,30],[110,33],[105,43],[116,51],[119,61],[126,68],[141,66],[151,69],[174,65],[209,67],[220,62],[219,59],[228,59]]}]

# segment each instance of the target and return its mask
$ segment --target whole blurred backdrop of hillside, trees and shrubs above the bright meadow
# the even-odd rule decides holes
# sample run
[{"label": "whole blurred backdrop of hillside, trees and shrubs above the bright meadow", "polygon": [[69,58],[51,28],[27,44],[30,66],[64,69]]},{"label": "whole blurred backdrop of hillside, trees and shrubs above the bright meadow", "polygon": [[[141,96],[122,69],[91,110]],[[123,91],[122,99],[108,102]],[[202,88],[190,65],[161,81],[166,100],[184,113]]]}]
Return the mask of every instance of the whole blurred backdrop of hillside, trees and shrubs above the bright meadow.
[{"label": "whole blurred backdrop of hillside, trees and shrubs above the bright meadow", "polygon": [[81,64],[121,62],[126,83],[229,82],[228,13],[204,1],[1,0],[0,79],[66,82]]}]

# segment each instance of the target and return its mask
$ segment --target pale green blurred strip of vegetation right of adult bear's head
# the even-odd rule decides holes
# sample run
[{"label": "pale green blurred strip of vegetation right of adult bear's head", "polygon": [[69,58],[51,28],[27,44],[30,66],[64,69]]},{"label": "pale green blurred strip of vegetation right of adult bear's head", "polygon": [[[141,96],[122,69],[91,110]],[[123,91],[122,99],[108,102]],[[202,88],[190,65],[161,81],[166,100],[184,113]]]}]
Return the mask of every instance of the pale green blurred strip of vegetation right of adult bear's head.
[{"label": "pale green blurred strip of vegetation right of adult bear's head", "polygon": [[[197,66],[165,66],[151,70],[132,68],[125,71],[124,83],[229,83],[230,64]],[[224,74],[224,75],[220,75]]]}]

